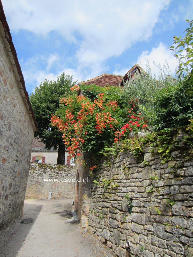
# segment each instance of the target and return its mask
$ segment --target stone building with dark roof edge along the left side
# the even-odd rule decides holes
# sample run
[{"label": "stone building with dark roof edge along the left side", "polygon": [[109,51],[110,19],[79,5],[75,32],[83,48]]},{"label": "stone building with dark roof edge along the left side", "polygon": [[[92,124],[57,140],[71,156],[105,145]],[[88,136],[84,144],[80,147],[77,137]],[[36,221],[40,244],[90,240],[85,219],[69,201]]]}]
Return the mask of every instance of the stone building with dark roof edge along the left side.
[{"label": "stone building with dark roof edge along the left side", "polygon": [[0,229],[21,213],[36,119],[0,1]]}]

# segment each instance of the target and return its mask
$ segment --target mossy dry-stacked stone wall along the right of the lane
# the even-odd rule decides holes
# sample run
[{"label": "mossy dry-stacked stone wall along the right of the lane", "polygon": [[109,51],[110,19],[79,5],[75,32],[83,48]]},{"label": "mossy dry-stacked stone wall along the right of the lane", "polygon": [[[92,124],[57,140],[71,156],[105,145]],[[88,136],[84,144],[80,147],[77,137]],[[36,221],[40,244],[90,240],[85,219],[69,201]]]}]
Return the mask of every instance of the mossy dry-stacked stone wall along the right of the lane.
[{"label": "mossy dry-stacked stone wall along the right of the lane", "polygon": [[144,147],[140,159],[120,152],[101,161],[83,219],[117,256],[193,256],[193,159],[182,148],[162,163],[151,150]]}]

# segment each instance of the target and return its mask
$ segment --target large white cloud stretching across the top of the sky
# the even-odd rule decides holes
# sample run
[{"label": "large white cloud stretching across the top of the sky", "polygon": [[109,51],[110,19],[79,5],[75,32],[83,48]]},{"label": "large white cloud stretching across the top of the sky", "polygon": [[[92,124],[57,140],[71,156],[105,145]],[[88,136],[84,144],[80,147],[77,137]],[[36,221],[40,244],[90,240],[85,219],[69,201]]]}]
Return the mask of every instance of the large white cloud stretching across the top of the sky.
[{"label": "large white cloud stretching across the top of the sky", "polygon": [[147,40],[169,2],[3,0],[3,6],[12,31],[23,29],[44,36],[58,31],[67,41],[78,44],[77,62],[89,67],[102,65],[132,44]]}]

